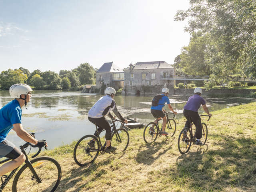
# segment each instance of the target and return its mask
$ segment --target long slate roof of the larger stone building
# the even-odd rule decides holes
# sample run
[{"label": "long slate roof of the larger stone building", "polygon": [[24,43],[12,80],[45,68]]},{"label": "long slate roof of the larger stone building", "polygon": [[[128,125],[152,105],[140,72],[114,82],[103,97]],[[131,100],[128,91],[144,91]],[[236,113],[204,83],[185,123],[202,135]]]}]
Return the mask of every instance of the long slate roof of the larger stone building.
[{"label": "long slate roof of the larger stone building", "polygon": [[[124,68],[123,70],[130,70],[130,66]],[[132,70],[139,70],[139,69],[166,69],[166,68],[173,68],[170,64],[165,61],[149,61],[149,62],[137,62],[133,64]]]}]

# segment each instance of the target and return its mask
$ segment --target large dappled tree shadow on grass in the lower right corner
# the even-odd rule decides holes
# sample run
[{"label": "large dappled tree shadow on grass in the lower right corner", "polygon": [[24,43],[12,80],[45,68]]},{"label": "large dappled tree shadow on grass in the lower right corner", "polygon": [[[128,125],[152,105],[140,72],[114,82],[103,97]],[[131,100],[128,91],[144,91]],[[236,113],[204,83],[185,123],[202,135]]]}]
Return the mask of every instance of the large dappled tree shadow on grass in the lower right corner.
[{"label": "large dappled tree shadow on grass in the lower right corner", "polygon": [[256,141],[231,136],[223,139],[216,150],[198,147],[196,152],[179,156],[176,172],[165,174],[189,178],[186,184],[191,191],[256,191]]}]

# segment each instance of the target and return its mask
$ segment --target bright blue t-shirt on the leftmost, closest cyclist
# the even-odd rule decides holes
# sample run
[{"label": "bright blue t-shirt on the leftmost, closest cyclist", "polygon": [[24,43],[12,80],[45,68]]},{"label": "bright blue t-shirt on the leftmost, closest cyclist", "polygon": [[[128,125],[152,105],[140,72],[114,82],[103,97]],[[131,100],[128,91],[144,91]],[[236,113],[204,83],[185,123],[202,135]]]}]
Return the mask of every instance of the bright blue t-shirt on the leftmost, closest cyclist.
[{"label": "bright blue t-shirt on the leftmost, closest cyclist", "polygon": [[0,142],[6,140],[13,124],[21,123],[21,112],[20,104],[16,99],[0,109]]}]

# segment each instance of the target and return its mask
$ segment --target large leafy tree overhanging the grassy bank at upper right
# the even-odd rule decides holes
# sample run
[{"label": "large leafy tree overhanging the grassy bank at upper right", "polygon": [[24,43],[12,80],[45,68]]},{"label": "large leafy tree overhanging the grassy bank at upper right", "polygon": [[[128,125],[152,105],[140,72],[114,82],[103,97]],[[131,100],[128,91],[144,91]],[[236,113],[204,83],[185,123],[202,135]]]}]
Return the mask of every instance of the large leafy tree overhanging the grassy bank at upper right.
[{"label": "large leafy tree overhanging the grassy bank at upper right", "polygon": [[177,12],[174,20],[189,18],[185,31],[210,40],[206,59],[215,82],[240,69],[256,77],[255,7],[254,0],[190,0],[188,10]]}]

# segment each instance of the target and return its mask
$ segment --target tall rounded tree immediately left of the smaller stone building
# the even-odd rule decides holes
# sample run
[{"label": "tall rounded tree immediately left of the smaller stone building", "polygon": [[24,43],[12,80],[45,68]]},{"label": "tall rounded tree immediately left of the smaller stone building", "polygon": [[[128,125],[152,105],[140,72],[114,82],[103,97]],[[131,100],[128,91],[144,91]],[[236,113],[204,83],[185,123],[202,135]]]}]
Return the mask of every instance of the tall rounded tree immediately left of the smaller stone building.
[{"label": "tall rounded tree immediately left of the smaller stone building", "polygon": [[94,68],[88,63],[80,64],[80,66],[72,70],[72,72],[78,75],[81,84],[93,84],[96,81]]}]

